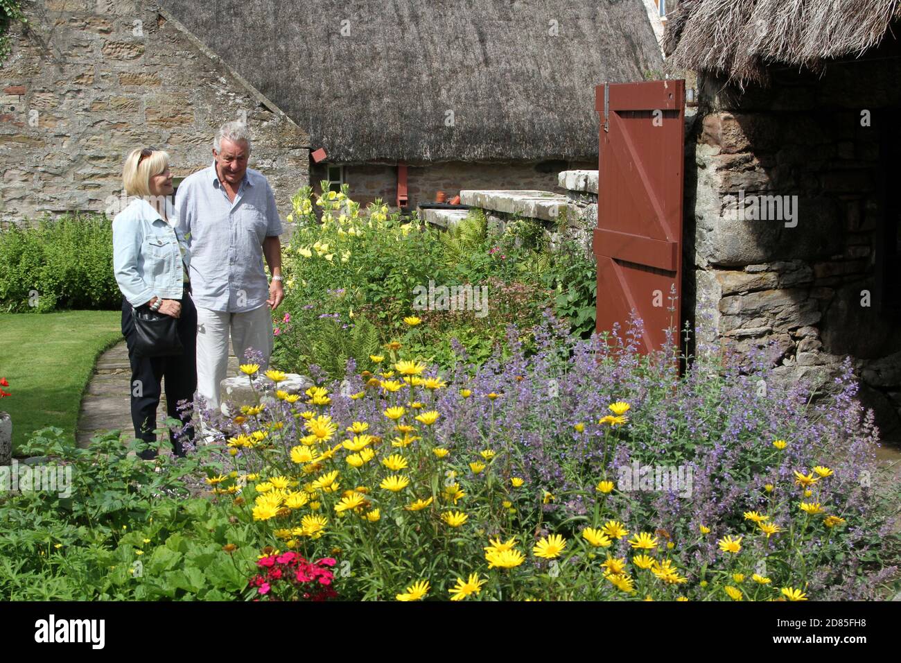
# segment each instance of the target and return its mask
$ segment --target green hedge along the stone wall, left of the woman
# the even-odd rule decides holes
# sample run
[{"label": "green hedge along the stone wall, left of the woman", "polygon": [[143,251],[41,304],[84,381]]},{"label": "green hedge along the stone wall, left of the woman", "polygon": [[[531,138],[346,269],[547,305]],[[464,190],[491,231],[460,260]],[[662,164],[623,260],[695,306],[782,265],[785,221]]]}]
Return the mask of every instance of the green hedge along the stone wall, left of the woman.
[{"label": "green hedge along the stone wall, left of the woman", "polygon": [[0,231],[0,310],[118,308],[113,227],[105,216],[45,218]]}]

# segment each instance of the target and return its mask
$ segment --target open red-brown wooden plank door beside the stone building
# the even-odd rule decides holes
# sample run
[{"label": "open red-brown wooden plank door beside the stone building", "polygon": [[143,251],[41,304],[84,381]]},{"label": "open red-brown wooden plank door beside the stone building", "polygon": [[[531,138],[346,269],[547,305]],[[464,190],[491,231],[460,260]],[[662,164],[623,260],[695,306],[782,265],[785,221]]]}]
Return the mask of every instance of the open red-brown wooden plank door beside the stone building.
[{"label": "open red-brown wooden plank door beside the stone building", "polygon": [[[676,329],[682,300],[685,81],[605,83],[597,181],[597,331],[644,321],[642,352]],[[671,291],[675,291],[675,298]]]}]

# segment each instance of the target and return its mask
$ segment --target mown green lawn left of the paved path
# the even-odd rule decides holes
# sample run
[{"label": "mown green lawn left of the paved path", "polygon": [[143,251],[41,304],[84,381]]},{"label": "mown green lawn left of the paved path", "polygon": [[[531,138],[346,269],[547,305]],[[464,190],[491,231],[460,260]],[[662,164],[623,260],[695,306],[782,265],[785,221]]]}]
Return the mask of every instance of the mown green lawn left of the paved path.
[{"label": "mown green lawn left of the paved path", "polygon": [[81,394],[94,363],[122,338],[121,311],[0,314],[0,377],[13,395],[13,453],[29,434],[58,426],[73,437]]}]

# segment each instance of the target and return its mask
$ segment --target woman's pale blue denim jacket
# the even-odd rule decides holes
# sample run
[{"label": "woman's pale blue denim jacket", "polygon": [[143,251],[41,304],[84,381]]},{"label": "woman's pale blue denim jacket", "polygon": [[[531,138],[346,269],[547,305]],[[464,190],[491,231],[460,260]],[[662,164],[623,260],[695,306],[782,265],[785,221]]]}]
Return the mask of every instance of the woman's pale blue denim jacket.
[{"label": "woman's pale blue denim jacket", "polygon": [[113,270],[125,299],[138,307],[154,296],[181,299],[184,269],[191,261],[185,237],[177,232],[175,208],[166,200],[166,216],[162,219],[150,203],[142,198],[132,202],[113,218]]}]

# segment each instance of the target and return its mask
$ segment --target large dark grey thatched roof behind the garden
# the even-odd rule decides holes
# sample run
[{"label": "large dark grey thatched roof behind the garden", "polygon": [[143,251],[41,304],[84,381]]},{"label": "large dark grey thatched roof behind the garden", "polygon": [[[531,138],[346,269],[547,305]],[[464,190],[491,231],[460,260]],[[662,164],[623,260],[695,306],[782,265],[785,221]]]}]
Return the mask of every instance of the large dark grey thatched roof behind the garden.
[{"label": "large dark grey thatched roof behind the garden", "polygon": [[329,161],[594,158],[594,87],[662,69],[642,0],[160,5]]}]

